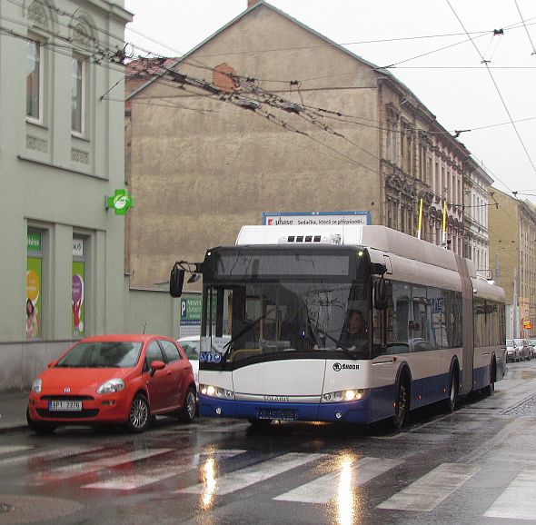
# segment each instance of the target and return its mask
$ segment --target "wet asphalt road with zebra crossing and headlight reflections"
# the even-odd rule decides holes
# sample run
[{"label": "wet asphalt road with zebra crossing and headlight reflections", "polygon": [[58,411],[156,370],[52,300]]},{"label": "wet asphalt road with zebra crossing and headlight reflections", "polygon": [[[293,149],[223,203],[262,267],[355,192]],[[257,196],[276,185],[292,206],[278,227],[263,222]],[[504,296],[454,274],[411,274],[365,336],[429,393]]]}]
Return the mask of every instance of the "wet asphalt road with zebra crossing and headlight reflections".
[{"label": "wet asphalt road with zebra crossing and headlight reflections", "polygon": [[162,418],[0,435],[0,525],[536,523],[536,360],[402,431]]}]

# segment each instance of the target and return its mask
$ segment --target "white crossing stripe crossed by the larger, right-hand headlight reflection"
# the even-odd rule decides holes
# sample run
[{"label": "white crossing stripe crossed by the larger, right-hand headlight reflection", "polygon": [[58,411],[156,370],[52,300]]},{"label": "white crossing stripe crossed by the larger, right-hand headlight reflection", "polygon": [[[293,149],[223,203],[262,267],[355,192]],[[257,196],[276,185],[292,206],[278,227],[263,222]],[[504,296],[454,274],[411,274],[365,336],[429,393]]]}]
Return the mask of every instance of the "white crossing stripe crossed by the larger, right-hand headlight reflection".
[{"label": "white crossing stripe crossed by the larger, right-hand headlight reflection", "polygon": [[353,463],[342,464],[337,471],[322,478],[310,481],[301,487],[290,490],[273,498],[282,501],[302,503],[327,503],[337,498],[341,490],[348,492],[353,487],[364,485],[367,481],[391,471],[403,461],[364,457]]}]

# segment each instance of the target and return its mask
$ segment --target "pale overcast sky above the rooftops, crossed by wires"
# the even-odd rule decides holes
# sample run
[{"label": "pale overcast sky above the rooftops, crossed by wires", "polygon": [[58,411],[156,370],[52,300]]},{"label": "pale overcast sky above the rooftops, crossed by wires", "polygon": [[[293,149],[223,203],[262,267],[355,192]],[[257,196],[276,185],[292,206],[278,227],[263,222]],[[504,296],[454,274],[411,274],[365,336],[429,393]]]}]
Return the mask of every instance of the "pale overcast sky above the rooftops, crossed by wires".
[{"label": "pale overcast sky above the rooftops, crossed by wires", "polygon": [[[138,46],[138,53],[167,56],[188,52],[247,8],[247,0],[124,4],[134,14],[126,41]],[[535,0],[270,4],[373,64],[397,64],[391,73],[443,127],[452,133],[471,130],[460,140],[483,163],[493,185],[536,203]],[[493,35],[494,30],[503,35]]]}]

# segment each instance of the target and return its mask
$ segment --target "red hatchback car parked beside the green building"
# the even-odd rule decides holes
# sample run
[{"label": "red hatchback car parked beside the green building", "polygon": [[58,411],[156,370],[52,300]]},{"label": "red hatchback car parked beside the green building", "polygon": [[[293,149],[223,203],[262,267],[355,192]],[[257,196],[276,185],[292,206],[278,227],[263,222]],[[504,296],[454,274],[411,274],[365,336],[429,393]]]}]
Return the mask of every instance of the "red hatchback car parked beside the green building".
[{"label": "red hatchback car parked beside the green building", "polygon": [[60,425],[124,423],[143,432],[151,416],[195,417],[195,381],[183,349],[160,335],[97,335],[76,342],[32,384],[26,417],[39,433]]}]

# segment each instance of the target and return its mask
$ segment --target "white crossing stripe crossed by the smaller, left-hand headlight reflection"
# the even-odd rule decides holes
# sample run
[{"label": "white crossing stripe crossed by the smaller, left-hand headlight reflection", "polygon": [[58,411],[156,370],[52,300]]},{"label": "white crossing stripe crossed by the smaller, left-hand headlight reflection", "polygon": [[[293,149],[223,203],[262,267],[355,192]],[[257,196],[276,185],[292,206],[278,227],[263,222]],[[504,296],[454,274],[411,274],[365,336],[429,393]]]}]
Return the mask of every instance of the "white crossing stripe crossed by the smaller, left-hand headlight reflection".
[{"label": "white crossing stripe crossed by the smaller, left-hand headlight reflection", "polygon": [[254,483],[259,483],[263,480],[268,480],[290,471],[296,467],[301,467],[312,461],[324,458],[325,454],[303,454],[292,452],[284,454],[277,459],[263,461],[260,464],[252,465],[241,471],[234,471],[217,477],[211,463],[203,465],[204,482],[188,487],[187,489],[177,490],[180,493],[186,494],[203,494],[210,491],[211,494],[230,494],[235,490],[242,490]]}]

